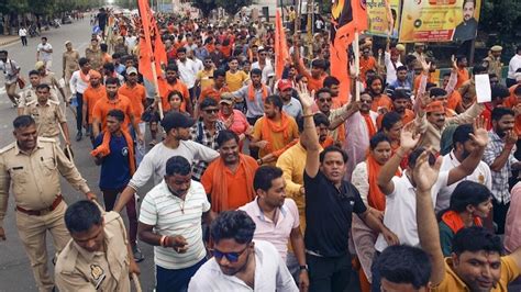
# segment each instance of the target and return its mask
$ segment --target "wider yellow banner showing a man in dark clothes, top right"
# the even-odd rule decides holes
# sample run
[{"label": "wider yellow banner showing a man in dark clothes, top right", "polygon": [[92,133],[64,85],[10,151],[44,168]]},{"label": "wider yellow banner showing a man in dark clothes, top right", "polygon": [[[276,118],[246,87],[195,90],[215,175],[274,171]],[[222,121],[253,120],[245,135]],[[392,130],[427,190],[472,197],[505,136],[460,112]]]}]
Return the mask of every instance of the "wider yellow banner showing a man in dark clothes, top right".
[{"label": "wider yellow banner showing a man in dark clothes, top right", "polygon": [[400,42],[464,42],[476,37],[481,0],[407,0]]}]

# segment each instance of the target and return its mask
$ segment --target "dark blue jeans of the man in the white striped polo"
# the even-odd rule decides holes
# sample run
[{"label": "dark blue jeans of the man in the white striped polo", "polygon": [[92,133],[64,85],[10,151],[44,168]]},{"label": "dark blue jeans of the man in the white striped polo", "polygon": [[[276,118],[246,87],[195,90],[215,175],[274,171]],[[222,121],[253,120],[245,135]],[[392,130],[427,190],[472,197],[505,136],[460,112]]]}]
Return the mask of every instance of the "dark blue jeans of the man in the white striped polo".
[{"label": "dark blue jeans of the man in the white striped polo", "polygon": [[207,258],[203,258],[191,267],[178,270],[165,269],[156,265],[156,292],[187,291],[190,279],[206,261]]}]

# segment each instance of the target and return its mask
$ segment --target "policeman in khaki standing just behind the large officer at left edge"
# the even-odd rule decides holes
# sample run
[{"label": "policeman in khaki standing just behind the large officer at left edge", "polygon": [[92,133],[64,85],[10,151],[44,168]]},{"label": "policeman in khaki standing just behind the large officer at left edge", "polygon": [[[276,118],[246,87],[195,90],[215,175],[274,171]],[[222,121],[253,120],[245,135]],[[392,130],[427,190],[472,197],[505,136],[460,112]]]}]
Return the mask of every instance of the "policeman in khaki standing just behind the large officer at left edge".
[{"label": "policeman in khaki standing just behind the large officer at left edge", "polygon": [[65,144],[70,145],[67,119],[59,103],[49,99],[51,87],[45,83],[38,85],[36,96],[37,99],[30,101],[23,109],[23,114],[29,114],[34,119],[38,136],[54,138],[59,144],[59,127],[62,127]]}]

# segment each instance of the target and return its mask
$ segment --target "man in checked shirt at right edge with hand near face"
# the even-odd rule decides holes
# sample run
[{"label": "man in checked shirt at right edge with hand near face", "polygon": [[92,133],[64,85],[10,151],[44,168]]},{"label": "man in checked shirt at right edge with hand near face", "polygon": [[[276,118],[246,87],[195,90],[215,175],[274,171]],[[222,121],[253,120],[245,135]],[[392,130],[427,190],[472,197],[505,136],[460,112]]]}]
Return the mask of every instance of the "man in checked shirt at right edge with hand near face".
[{"label": "man in checked shirt at right edge with hand near face", "polygon": [[489,165],[492,175],[494,222],[498,234],[505,233],[505,220],[510,206],[509,178],[512,170],[521,168],[513,156],[518,135],[513,131],[514,112],[506,108],[492,110],[492,130],[488,132],[490,143],[485,149],[483,160]]}]

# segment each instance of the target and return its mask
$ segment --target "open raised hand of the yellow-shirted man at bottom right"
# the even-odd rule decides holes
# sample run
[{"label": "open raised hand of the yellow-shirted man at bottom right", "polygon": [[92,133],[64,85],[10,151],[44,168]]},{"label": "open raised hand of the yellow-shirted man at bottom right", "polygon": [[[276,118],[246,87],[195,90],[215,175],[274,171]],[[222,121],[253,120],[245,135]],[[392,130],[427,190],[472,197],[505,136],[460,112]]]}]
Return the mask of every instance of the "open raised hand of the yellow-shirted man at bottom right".
[{"label": "open raised hand of the yellow-shirted man at bottom right", "polygon": [[[428,192],[432,186],[436,183],[437,175],[440,173],[440,167],[442,166],[443,157],[439,157],[434,166],[429,164],[429,157],[431,156],[431,149],[425,149],[420,157],[417,159],[417,164],[413,173],[413,181],[419,191]],[[420,192],[421,193],[421,192]]]}]

